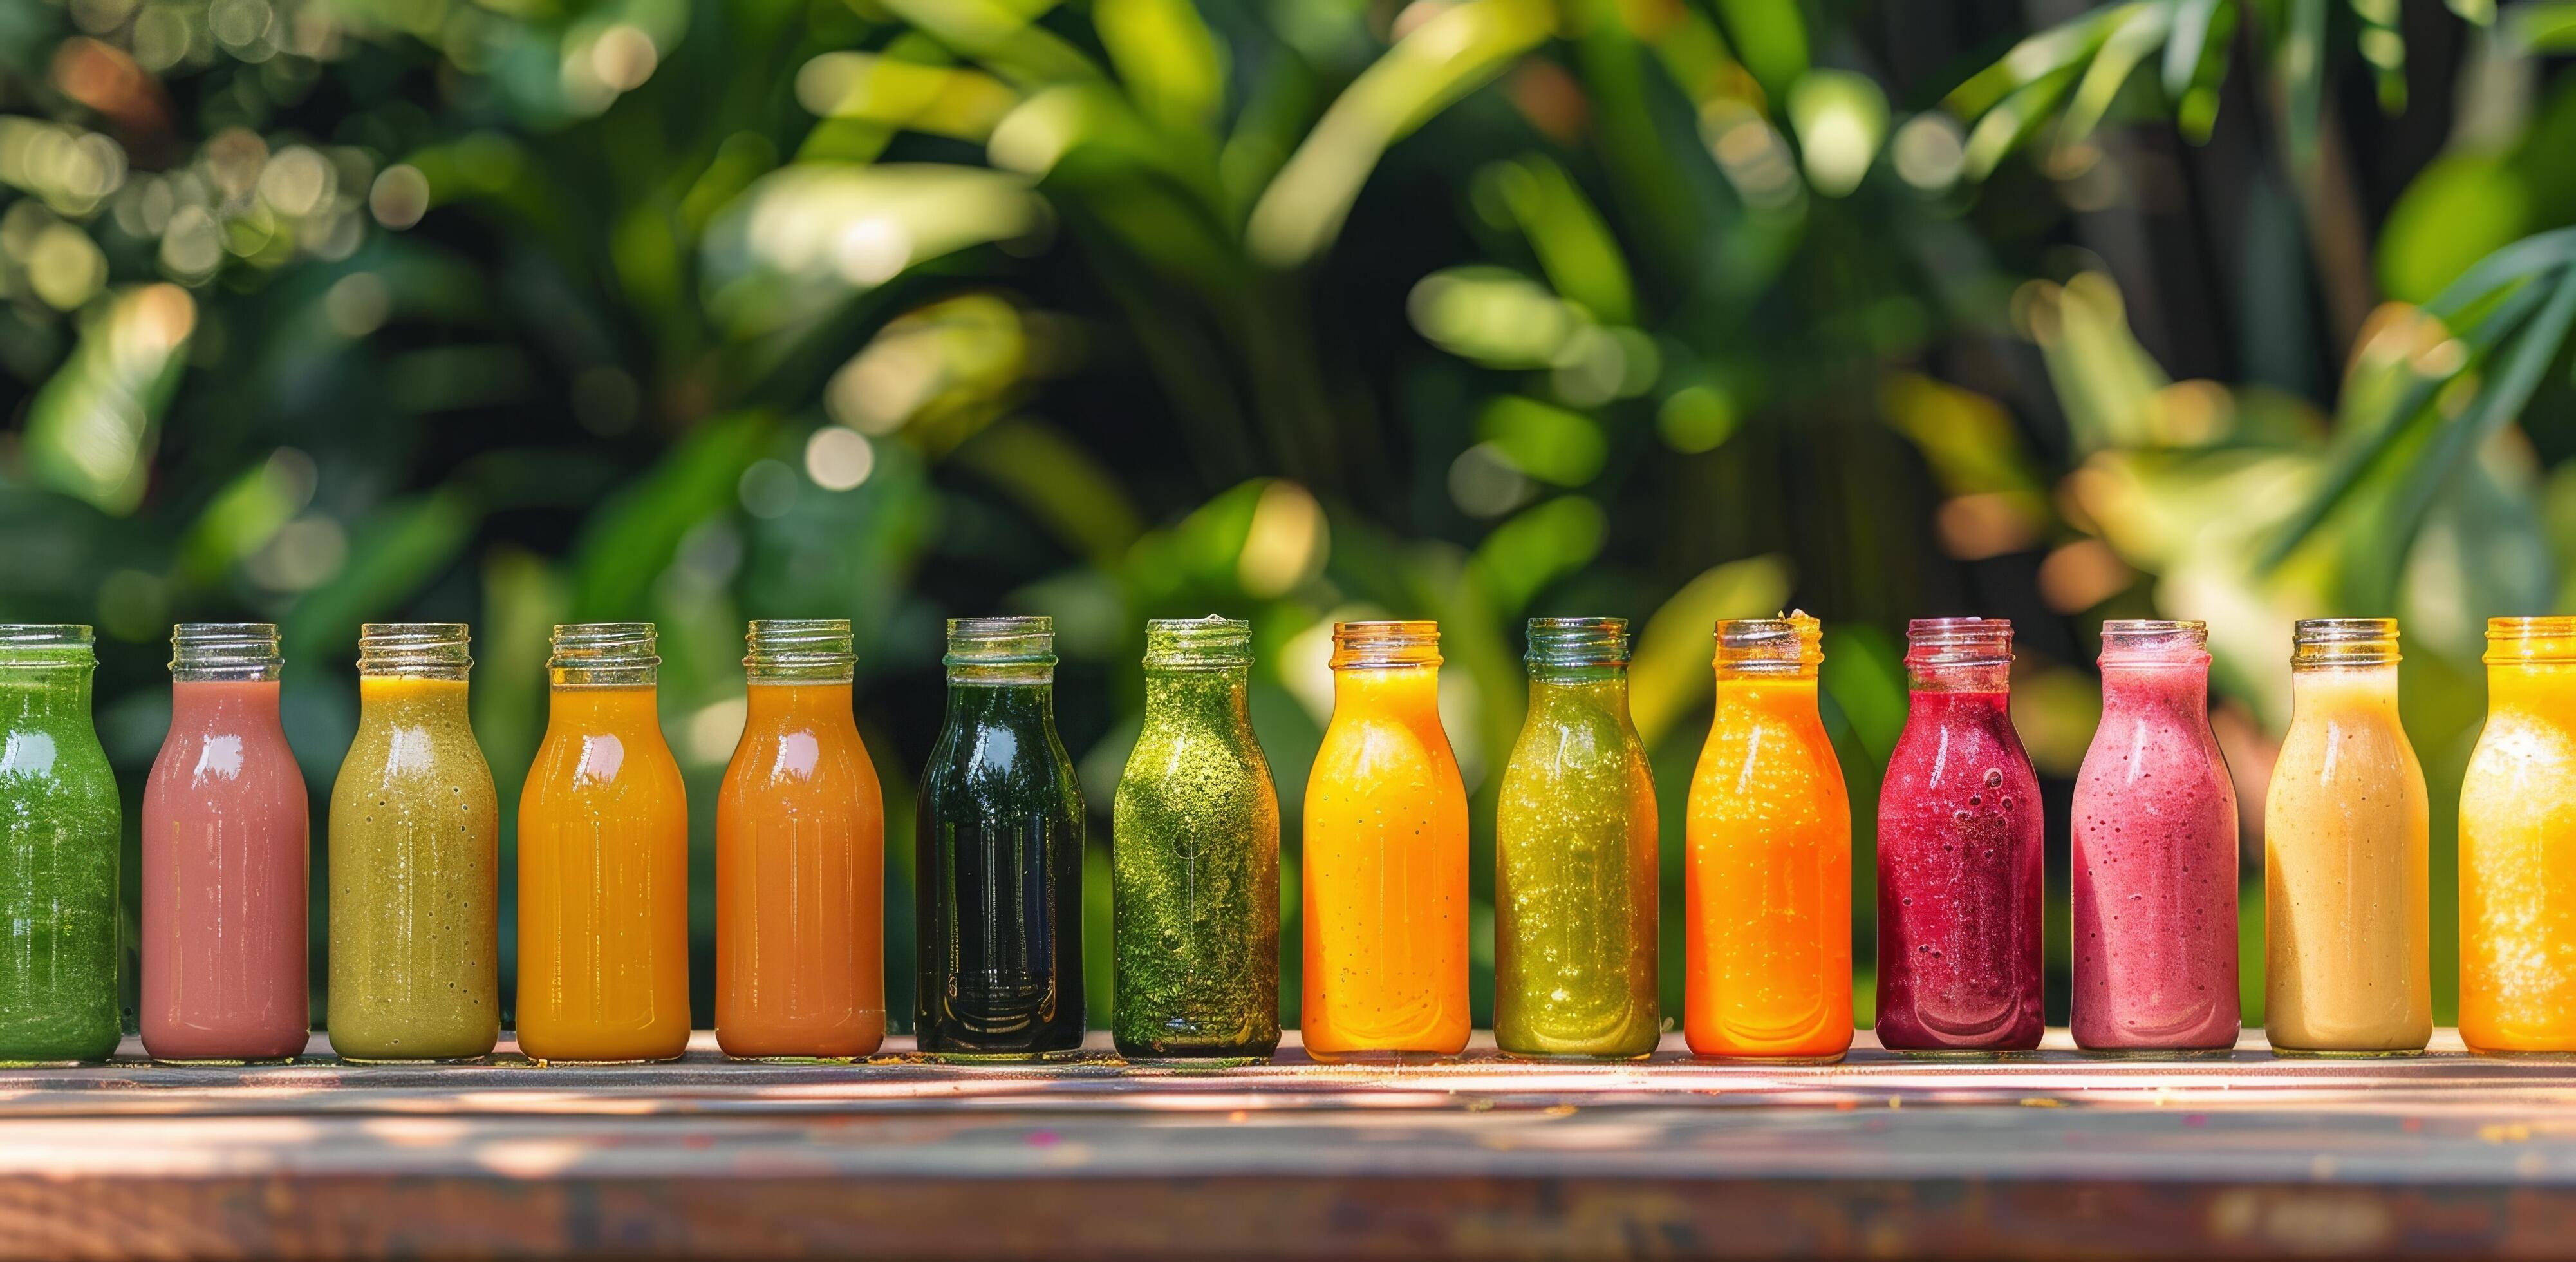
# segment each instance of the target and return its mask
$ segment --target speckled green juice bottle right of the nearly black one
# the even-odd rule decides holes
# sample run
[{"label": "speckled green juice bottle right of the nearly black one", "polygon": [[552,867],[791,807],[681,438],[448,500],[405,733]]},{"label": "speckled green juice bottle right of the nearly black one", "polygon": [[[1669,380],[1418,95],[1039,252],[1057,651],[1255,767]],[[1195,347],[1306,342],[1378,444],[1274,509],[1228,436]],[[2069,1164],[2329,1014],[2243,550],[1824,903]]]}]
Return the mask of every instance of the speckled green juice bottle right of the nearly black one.
[{"label": "speckled green juice bottle right of the nearly black one", "polygon": [[1110,809],[1128,1056],[1280,1043],[1280,798],[1249,688],[1252,623],[1146,623],[1144,731]]}]

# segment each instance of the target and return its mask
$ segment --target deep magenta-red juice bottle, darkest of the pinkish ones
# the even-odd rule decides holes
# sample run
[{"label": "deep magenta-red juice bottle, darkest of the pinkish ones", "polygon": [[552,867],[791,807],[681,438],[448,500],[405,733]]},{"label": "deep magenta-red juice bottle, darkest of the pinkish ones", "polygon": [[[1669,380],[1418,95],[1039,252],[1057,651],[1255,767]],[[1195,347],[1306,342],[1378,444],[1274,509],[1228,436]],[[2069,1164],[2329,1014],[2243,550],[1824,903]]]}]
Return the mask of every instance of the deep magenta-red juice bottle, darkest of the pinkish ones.
[{"label": "deep magenta-red juice bottle, darkest of the pinkish ones", "polygon": [[2040,1046],[2040,786],[2012,731],[2012,623],[1906,628],[1906,729],[1878,791],[1878,1043]]}]

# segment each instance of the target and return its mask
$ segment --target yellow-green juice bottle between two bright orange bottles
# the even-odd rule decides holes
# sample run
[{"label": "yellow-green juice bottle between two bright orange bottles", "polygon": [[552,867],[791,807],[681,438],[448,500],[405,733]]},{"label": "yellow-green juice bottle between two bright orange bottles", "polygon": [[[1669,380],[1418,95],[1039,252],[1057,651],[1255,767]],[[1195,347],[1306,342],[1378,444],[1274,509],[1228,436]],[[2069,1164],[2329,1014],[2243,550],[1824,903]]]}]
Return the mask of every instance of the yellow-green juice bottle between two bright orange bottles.
[{"label": "yellow-green juice bottle between two bright orange bottles", "polygon": [[1494,1046],[1649,1056],[1662,868],[1628,621],[1530,618],[1528,636],[1530,713],[1494,804]]}]

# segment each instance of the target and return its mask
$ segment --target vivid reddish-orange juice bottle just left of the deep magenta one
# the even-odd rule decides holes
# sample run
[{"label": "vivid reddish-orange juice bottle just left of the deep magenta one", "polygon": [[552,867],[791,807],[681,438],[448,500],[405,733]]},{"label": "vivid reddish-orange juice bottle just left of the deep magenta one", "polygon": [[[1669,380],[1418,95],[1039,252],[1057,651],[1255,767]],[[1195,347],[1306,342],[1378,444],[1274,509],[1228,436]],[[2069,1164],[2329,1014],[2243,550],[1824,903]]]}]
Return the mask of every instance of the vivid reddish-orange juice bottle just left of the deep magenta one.
[{"label": "vivid reddish-orange juice bottle just left of the deep magenta one", "polygon": [[1819,639],[1803,613],[1718,623],[1682,886],[1682,1035],[1700,1056],[1852,1046],[1852,804],[1816,716]]}]

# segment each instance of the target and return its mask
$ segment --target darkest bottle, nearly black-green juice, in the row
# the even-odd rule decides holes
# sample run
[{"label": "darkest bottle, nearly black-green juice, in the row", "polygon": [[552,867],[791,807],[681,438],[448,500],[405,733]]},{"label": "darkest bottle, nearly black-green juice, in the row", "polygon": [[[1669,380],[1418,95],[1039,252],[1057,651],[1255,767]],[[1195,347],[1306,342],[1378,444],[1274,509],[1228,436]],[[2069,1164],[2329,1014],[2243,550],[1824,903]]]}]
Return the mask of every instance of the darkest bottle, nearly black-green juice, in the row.
[{"label": "darkest bottle, nearly black-green juice, in the row", "polygon": [[1051,618],[948,623],[948,719],[922,773],[914,847],[920,1048],[1079,1048],[1082,786],[1056,739]]}]

